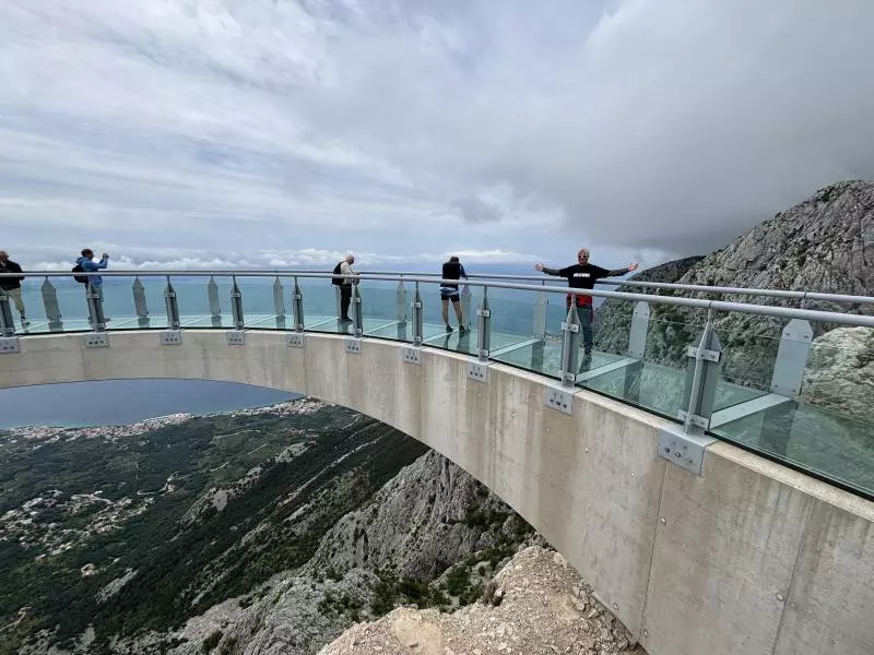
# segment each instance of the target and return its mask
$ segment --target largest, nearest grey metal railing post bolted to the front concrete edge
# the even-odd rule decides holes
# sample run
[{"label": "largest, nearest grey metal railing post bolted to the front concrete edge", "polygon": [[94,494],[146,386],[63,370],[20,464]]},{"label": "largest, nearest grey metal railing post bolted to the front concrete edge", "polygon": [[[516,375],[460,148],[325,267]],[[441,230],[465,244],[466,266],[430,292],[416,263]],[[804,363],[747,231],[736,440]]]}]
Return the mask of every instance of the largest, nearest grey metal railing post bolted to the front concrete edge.
[{"label": "largest, nearest grey metal railing post bolted to the front concrete edge", "polygon": [[710,427],[722,370],[722,345],[713,326],[713,310],[707,310],[707,323],[698,344],[688,346],[686,355],[689,362],[680,418],[685,433],[701,434]]}]

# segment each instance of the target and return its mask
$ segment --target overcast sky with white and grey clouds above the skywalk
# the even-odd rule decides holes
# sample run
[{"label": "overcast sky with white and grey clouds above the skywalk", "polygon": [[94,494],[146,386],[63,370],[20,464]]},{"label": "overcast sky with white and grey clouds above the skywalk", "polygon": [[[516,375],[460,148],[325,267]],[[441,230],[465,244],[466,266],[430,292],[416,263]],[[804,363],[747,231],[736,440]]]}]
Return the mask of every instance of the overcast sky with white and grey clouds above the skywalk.
[{"label": "overcast sky with white and grey clouds above the skywalk", "polygon": [[0,248],[707,252],[874,177],[871,25],[872,0],[0,0]]}]

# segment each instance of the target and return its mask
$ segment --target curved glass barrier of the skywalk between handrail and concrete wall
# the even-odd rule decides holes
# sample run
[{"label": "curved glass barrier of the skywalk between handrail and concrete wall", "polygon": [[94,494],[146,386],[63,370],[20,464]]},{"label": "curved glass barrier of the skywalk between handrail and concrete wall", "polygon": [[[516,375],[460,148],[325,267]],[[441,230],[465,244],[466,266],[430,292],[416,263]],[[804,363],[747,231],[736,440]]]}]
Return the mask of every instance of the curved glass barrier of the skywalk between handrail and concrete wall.
[{"label": "curved glass barrier of the skywalk between handrail and concrete wall", "polygon": [[[357,287],[359,323],[349,324],[336,319],[339,298],[330,277],[311,275],[286,272],[105,275],[102,303],[105,326],[109,332],[177,326],[294,331],[299,321],[308,332],[411,344],[420,340],[423,347],[464,353],[565,382],[566,344],[581,347],[579,338],[574,342],[567,338],[566,289],[536,289],[530,283],[518,285],[521,288],[471,283],[462,294],[464,320],[470,329],[460,334],[457,325],[447,332],[442,323],[437,278],[415,282],[402,276],[394,279],[365,276]],[[551,281],[544,278],[544,282]],[[168,283],[175,294],[173,302],[168,301]],[[295,298],[295,290],[299,291],[299,299]],[[28,274],[23,291],[31,324],[23,327],[7,300],[5,308],[0,307],[7,312],[0,326],[5,326],[8,337],[93,329],[90,321],[93,306],[85,297],[84,285],[73,282],[69,274]],[[414,307],[416,293],[421,298],[418,308]],[[487,321],[477,311],[484,307],[484,295]],[[649,302],[654,306],[658,298],[650,298],[656,299]],[[676,314],[665,312],[653,312],[650,317],[647,310],[641,322],[633,318],[637,314],[631,311],[640,300],[612,298],[611,302],[614,310],[625,306],[627,320],[607,323],[595,312],[595,350],[590,360],[582,357],[581,350],[574,358],[571,383],[681,420],[683,412],[689,408],[689,384],[695,382],[694,367],[685,355],[688,348],[695,350],[699,346],[708,311],[684,309],[678,320]],[[720,321],[730,313],[724,310],[714,313],[718,336]],[[815,313],[811,313],[812,319],[817,318]],[[819,313],[823,320],[807,321],[805,330],[811,333],[804,337],[787,331],[788,319],[761,317],[757,324],[767,329],[755,338],[728,341],[721,353],[722,361],[736,364],[745,361],[747,356],[746,361],[753,361],[754,366],[749,366],[748,374],[736,365],[722,367],[711,381],[712,403],[702,427],[718,439],[874,498],[874,413],[866,410],[863,398],[855,404],[841,403],[818,391],[822,385],[813,392],[802,388],[812,371],[817,348],[822,348],[813,341],[814,334],[839,326],[834,323],[834,313]],[[451,306],[449,315],[454,325]],[[174,324],[176,320],[178,325]],[[851,329],[872,330],[862,325]],[[487,338],[481,335],[483,330],[487,331]],[[610,333],[615,330],[631,334]],[[744,348],[749,353],[739,352]],[[845,355],[845,359],[852,359],[853,354]],[[867,386],[870,394],[874,380],[867,380]]]}]

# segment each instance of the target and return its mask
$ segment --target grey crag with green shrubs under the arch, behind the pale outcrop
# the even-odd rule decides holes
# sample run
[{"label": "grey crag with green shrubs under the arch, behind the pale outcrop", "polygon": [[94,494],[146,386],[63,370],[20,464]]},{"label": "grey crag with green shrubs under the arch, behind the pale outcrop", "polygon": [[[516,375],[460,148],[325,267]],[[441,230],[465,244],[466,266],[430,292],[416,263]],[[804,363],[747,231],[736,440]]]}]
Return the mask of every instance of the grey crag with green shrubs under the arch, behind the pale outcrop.
[{"label": "grey crag with green shrubs under the arch, behind the pale outcrop", "polygon": [[341,519],[303,568],[210,608],[177,632],[120,651],[315,653],[353,622],[398,604],[449,609],[472,602],[532,540],[533,531],[506,504],[430,451]]}]

